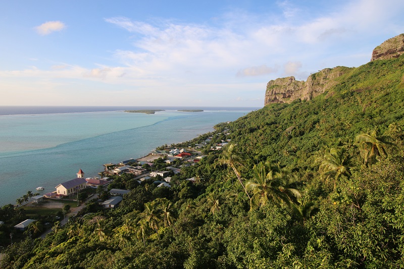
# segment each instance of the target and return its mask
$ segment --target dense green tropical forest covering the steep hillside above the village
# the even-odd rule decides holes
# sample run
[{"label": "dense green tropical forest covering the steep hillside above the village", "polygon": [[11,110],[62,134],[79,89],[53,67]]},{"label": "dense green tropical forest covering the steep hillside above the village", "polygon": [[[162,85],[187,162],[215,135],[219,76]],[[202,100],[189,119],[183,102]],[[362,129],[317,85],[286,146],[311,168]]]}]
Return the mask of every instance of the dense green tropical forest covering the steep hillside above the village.
[{"label": "dense green tropical forest covering the steep hillside above the village", "polygon": [[91,202],[8,247],[3,267],[404,267],[403,64],[374,61],[311,101],[217,125],[189,141],[212,137],[170,189],[140,184],[112,210]]}]

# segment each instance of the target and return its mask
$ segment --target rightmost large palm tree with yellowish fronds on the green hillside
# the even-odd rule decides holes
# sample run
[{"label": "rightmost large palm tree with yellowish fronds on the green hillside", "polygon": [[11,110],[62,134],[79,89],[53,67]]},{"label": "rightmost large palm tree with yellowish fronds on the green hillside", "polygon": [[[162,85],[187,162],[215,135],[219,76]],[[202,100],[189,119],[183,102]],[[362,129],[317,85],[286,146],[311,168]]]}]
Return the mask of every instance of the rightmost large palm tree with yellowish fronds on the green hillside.
[{"label": "rightmost large palm tree with yellowish fronds on the green hillside", "polygon": [[394,146],[394,143],[389,142],[390,139],[389,136],[380,134],[378,126],[356,137],[365,165],[374,164],[376,156],[387,156],[386,147]]}]

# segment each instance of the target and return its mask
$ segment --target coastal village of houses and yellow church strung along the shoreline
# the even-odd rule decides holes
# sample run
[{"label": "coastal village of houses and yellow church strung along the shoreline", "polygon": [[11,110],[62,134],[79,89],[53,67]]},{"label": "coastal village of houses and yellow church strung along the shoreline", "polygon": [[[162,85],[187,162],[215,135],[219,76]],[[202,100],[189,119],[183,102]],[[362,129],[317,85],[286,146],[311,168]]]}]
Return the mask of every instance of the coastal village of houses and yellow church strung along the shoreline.
[{"label": "coastal village of houses and yellow church strung along the shoreline", "polygon": [[[218,135],[221,135],[219,133]],[[223,135],[229,135],[227,128]],[[55,187],[55,190],[44,194],[28,192],[31,204],[41,204],[45,201],[71,200],[83,202],[85,200],[95,199],[97,203],[106,209],[119,206],[123,196],[131,191],[130,188],[115,188],[115,181],[125,177],[137,184],[152,182],[156,188],[171,188],[171,178],[173,175],[180,174],[184,167],[197,165],[206,155],[202,154],[201,149],[222,150],[222,147],[230,142],[230,139],[222,139],[216,142],[209,136],[200,143],[188,149],[167,146],[163,150],[153,150],[146,156],[140,158],[130,158],[123,160],[118,164],[104,164],[104,171],[99,172],[99,177],[85,177],[85,173],[80,168],[76,173],[76,178],[62,182]],[[217,139],[216,139],[217,140]],[[213,143],[214,142],[214,143]],[[186,178],[186,181],[192,184],[197,182],[197,177]],[[133,186],[136,186],[134,184]],[[38,191],[44,190],[43,187],[37,187]],[[80,195],[82,194],[82,195]],[[26,195],[27,196],[27,195]],[[27,202],[27,198],[25,201]],[[17,206],[19,206],[17,199]],[[20,198],[23,201],[23,198]],[[21,204],[21,203],[20,203]],[[60,217],[56,217],[60,220]],[[0,220],[1,221],[1,220]],[[25,231],[30,224],[36,220],[27,219],[14,228]],[[4,222],[0,222],[0,225]]]}]

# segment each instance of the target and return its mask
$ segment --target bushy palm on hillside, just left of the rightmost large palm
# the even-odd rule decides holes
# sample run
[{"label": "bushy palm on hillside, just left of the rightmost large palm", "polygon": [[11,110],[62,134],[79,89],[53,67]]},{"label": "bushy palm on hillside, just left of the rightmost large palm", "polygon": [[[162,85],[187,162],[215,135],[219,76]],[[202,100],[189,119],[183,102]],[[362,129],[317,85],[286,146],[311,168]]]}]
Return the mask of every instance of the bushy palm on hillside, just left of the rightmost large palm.
[{"label": "bushy palm on hillside, just left of the rightmost large palm", "polygon": [[334,176],[334,190],[336,182],[341,175],[350,177],[349,167],[347,167],[350,156],[346,153],[346,149],[331,148],[324,156],[318,157],[317,161],[321,162],[320,172],[322,175]]}]

